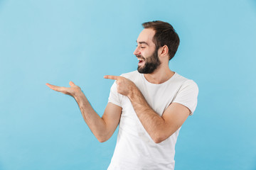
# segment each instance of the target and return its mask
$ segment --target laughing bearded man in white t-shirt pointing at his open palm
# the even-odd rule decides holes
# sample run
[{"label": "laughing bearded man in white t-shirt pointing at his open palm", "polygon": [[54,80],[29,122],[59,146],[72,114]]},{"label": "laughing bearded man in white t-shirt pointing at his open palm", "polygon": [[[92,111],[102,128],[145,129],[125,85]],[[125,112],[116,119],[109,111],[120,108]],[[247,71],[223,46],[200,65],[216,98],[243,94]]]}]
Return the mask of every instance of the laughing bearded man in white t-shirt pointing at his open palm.
[{"label": "laughing bearded man in white t-shirt pointing at his open palm", "polygon": [[163,21],[143,23],[134,55],[137,71],[118,76],[110,90],[102,118],[92,109],[79,86],[46,84],[78,102],[82,116],[100,142],[110,139],[119,125],[109,170],[174,169],[178,132],[196,109],[198,86],[169,69],[179,38]]}]

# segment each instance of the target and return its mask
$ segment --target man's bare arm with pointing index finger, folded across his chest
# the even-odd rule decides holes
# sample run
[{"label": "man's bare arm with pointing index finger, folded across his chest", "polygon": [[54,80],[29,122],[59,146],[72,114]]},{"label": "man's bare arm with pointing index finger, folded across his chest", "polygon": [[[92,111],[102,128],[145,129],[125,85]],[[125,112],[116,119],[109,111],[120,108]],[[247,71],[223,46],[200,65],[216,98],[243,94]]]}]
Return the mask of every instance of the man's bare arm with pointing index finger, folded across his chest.
[{"label": "man's bare arm with pointing index finger, folded across his chest", "polygon": [[146,102],[146,99],[137,86],[124,77],[105,76],[105,79],[114,79],[117,83],[117,92],[127,96],[132,102],[134,111],[144,126],[146,132],[156,143],[170,137],[185,122],[191,111],[180,103],[171,103],[163,115],[158,115]]}]

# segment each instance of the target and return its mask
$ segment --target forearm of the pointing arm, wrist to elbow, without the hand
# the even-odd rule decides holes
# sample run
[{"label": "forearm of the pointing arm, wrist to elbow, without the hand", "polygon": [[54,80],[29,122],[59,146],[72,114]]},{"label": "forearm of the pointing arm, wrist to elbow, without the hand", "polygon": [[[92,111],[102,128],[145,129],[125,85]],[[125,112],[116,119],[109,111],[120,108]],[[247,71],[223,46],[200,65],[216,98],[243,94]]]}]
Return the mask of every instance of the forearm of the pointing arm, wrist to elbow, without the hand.
[{"label": "forearm of the pointing arm, wrist to elbow, without the hand", "polygon": [[132,106],[134,107],[134,111],[137,113],[139,120],[144,126],[146,132],[149,133],[152,140],[154,140],[156,143],[165,140],[164,118],[158,115],[149,106],[141,91],[139,91],[139,89],[134,89],[129,95],[129,99],[132,102]]}]

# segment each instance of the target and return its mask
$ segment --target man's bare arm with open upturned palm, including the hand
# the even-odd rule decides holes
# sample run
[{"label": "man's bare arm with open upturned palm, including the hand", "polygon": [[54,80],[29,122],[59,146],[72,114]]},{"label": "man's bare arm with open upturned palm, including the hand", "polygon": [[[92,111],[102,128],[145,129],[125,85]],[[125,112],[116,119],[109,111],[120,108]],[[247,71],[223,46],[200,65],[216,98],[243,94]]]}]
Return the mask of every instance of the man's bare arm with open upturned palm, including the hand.
[{"label": "man's bare arm with open upturned palm, including the hand", "polygon": [[68,94],[75,98],[85,123],[87,123],[97,140],[105,142],[110,139],[119,124],[122,113],[121,107],[113,103],[107,103],[105,112],[103,113],[102,118],[100,118],[100,115],[94,111],[80,87],[76,86],[72,81],[70,81],[70,87],[53,86],[51,84],[46,85],[50,87],[50,89],[59,91],[63,94]]}]

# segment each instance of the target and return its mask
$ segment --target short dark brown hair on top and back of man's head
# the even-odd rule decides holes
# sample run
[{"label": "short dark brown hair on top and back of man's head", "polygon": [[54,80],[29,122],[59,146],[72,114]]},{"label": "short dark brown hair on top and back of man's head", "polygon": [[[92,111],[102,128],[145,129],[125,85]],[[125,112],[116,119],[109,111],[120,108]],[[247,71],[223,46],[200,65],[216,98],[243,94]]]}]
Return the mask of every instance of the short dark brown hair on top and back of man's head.
[{"label": "short dark brown hair on top and back of man's head", "polygon": [[167,45],[169,48],[169,60],[171,60],[178,50],[178,45],[180,42],[178,34],[174,30],[173,26],[163,21],[146,22],[142,23],[142,26],[144,28],[152,28],[156,31],[153,38],[153,42],[156,45],[156,50],[158,50],[159,47]]}]

